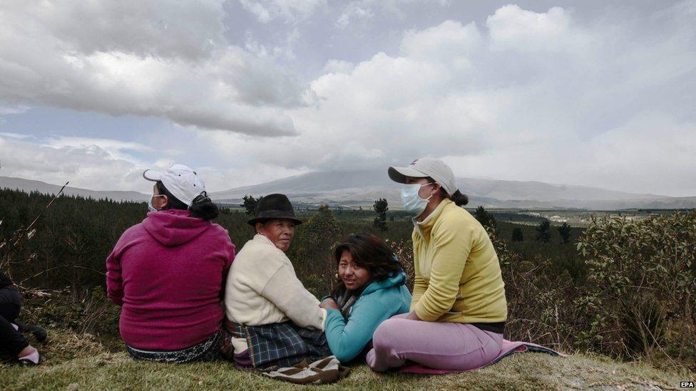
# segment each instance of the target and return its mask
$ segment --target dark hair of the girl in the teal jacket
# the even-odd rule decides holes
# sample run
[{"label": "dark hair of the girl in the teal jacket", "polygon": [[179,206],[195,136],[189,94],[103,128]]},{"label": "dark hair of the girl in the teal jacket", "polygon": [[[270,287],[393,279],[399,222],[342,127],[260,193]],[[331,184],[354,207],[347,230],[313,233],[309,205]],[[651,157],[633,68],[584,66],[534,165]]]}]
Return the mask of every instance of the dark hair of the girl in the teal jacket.
[{"label": "dark hair of the girl in the teal jacket", "polygon": [[[344,251],[348,251],[353,262],[370,273],[370,281],[383,281],[404,270],[396,259],[394,251],[379,239],[379,236],[361,232],[348,236],[334,249],[334,259],[338,264]],[[339,284],[339,288],[343,286]]]}]

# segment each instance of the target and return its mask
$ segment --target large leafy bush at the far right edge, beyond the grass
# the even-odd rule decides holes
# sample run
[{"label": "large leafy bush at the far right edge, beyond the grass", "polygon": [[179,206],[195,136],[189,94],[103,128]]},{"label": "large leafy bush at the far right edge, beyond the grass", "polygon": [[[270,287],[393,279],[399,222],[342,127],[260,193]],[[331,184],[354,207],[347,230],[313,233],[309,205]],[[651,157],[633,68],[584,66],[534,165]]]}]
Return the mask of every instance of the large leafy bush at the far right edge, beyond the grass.
[{"label": "large leafy bush at the far right edge, beyond the grass", "polygon": [[696,355],[696,212],[593,219],[578,250],[588,266],[581,298],[588,348],[618,356]]}]

